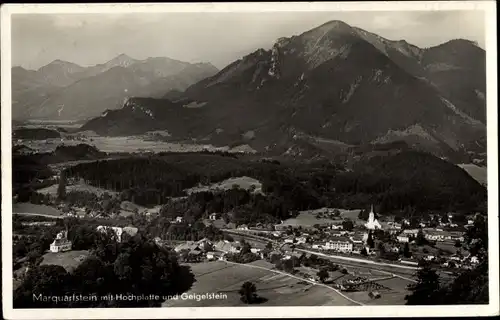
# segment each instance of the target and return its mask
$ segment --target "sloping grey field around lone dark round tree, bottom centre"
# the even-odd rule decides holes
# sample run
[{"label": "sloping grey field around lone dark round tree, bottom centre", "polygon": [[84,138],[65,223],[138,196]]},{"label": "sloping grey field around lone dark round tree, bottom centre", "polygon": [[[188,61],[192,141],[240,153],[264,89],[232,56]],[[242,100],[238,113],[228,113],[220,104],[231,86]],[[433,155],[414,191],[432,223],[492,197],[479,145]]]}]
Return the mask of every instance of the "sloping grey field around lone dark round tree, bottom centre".
[{"label": "sloping grey field around lone dark round tree, bottom centre", "polygon": [[267,301],[259,306],[322,306],[355,305],[332,289],[301,281],[292,276],[261,269],[271,268],[266,261],[255,261],[248,265],[216,261],[191,264],[196,282],[188,293],[224,293],[221,300],[178,300],[166,301],[165,307],[217,307],[244,306],[238,290],[245,281],[255,283],[257,294]]}]

